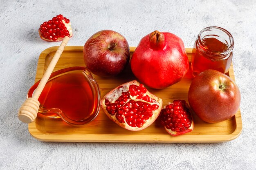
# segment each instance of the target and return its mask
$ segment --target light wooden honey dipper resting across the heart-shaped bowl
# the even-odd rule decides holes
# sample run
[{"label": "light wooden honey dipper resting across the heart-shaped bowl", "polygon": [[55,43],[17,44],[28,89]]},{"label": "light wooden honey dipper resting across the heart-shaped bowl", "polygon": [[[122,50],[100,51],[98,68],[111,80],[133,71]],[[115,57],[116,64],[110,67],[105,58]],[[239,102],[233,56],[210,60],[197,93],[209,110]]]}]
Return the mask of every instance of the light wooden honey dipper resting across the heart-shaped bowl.
[{"label": "light wooden honey dipper resting across the heart-shaped bowl", "polygon": [[34,121],[34,119],[36,119],[39,105],[40,105],[38,98],[42,93],[43,88],[45,87],[45,84],[47,83],[50,75],[52,74],[52,71],[54,70],[54,67],[58,62],[58,59],[61,57],[61,54],[65,49],[65,46],[67,45],[67,42],[69,40],[70,38],[65,36],[65,38],[61,42],[61,45],[58,47],[58,50],[54,54],[52,61],[50,62],[48,68],[46,69],[45,74],[43,75],[32,97],[27,98],[25,102],[21,105],[18,112],[18,118],[20,119],[20,121],[29,124],[32,121]]}]

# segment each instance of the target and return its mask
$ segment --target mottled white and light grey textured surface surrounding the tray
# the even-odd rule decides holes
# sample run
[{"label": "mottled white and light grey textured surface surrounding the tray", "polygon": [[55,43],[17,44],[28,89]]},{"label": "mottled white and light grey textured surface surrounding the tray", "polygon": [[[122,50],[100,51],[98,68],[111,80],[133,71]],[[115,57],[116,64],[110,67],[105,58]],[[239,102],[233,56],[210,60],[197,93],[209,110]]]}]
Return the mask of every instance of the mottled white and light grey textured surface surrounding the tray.
[{"label": "mottled white and light grey textured surface surrounding the tray", "polygon": [[[115,30],[137,46],[142,36],[168,31],[192,47],[207,26],[234,36],[234,72],[242,95],[243,132],[220,144],[112,144],[37,141],[17,119],[18,108],[34,84],[41,51],[59,43],[40,40],[45,20],[70,18],[74,37],[84,45],[93,33]],[[256,169],[256,1],[254,0],[1,0],[0,5],[0,169]]]}]

